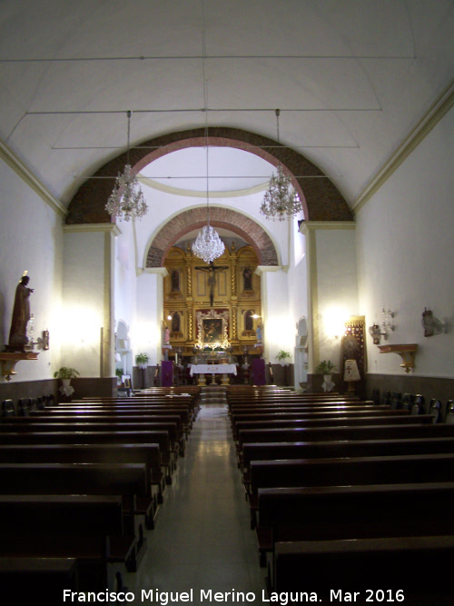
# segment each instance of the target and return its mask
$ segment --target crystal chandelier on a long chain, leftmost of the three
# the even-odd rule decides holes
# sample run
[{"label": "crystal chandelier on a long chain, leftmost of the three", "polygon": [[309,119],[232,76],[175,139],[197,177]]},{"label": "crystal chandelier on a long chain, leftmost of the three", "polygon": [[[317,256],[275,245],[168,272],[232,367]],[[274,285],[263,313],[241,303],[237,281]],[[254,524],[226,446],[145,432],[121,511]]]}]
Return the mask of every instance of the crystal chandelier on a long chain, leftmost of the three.
[{"label": "crystal chandelier on a long chain, leftmost of the three", "polygon": [[131,112],[128,111],[128,141],[126,164],[123,174],[118,174],[112,194],[110,194],[105,210],[119,221],[140,219],[148,212],[148,206],[143,198],[143,192],[137,175],[133,174],[129,159],[129,138],[131,129]]}]

